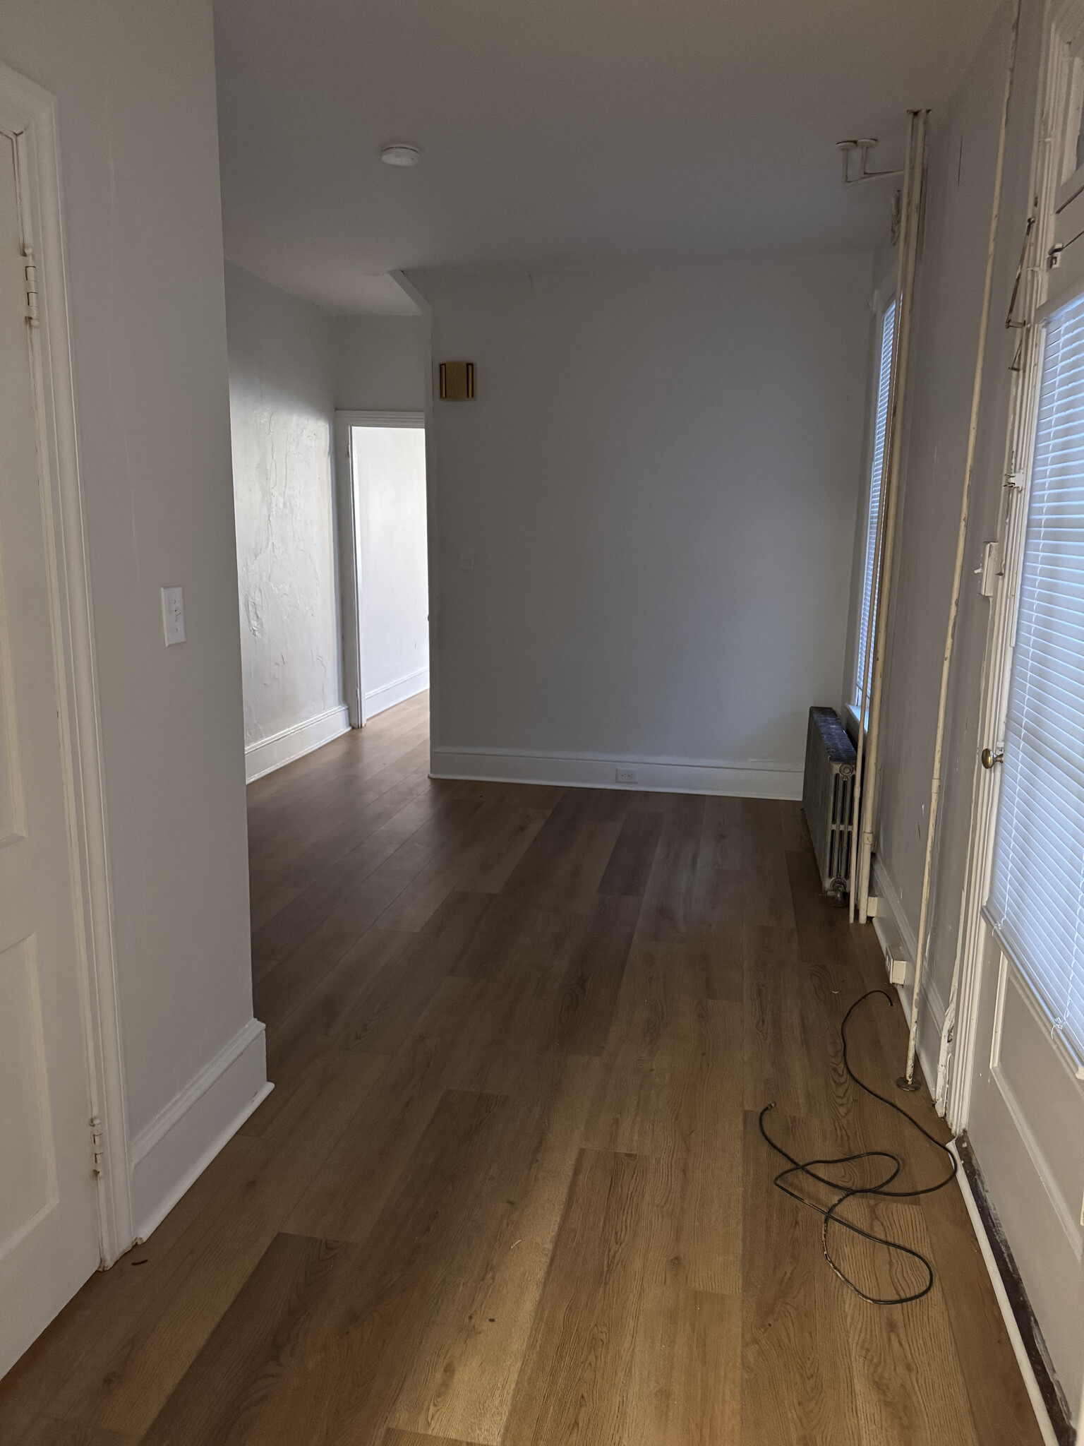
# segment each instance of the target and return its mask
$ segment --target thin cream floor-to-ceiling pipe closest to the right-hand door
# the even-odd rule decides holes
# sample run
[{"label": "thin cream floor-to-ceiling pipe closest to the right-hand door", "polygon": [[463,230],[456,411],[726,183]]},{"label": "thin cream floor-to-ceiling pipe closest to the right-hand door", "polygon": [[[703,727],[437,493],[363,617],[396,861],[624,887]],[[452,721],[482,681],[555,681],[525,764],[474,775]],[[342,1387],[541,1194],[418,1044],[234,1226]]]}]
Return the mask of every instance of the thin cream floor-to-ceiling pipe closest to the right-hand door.
[{"label": "thin cream floor-to-ceiling pipe closest to the right-hand door", "polygon": [[[926,821],[926,853],[922,865],[922,902],[918,915],[918,941],[915,944],[915,988],[911,996],[911,1031],[908,1035],[908,1069],[905,1080],[908,1089],[913,1089],[915,1056],[918,1051],[918,1014],[922,1002],[922,975],[925,972],[925,956],[929,950],[929,894],[934,876],[934,849],[937,844],[937,826],[941,805],[941,761],[945,742],[945,714],[948,711],[948,677],[952,665],[952,649],[955,648],[955,623],[960,613],[960,591],[964,577],[964,547],[967,544],[967,521],[971,508],[971,483],[974,480],[974,454],[978,437],[978,408],[983,398],[983,372],[986,362],[986,338],[990,330],[990,299],[993,296],[994,252],[997,247],[997,223],[1002,213],[1002,182],[1005,179],[1005,146],[1009,132],[1009,101],[1013,90],[1013,71],[1016,69],[1016,38],[1020,29],[1020,0],[1016,0],[1009,35],[1009,64],[1005,72],[1005,95],[1002,98],[1002,129],[997,137],[997,163],[994,168],[993,201],[990,205],[990,234],[986,243],[986,278],[983,282],[983,311],[978,321],[978,348],[974,359],[974,382],[971,386],[971,416],[967,427],[967,461],[964,464],[964,490],[960,497],[960,531],[955,539],[955,567],[952,570],[952,593],[948,603],[948,623],[945,626],[945,651],[941,658],[941,694],[937,704],[937,733],[934,736],[934,772],[929,779],[929,818]],[[952,991],[957,980],[952,979]],[[942,1025],[942,1050],[951,1024]],[[938,1071],[939,1073],[939,1071]],[[938,1090],[939,1093],[939,1090]]]}]

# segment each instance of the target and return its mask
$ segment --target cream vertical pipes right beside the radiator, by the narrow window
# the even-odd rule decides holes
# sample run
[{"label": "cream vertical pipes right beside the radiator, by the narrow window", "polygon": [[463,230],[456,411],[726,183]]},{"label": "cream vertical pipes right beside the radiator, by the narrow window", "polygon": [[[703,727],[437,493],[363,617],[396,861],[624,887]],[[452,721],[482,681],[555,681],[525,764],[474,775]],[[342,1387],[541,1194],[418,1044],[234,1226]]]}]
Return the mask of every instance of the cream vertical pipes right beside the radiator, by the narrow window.
[{"label": "cream vertical pipes right beside the radiator, by the narrow window", "polygon": [[[877,792],[877,745],[880,742],[880,700],[885,684],[885,645],[889,622],[889,597],[892,594],[892,565],[896,541],[896,510],[899,497],[899,467],[902,451],[903,401],[908,383],[908,357],[911,354],[911,315],[915,299],[915,269],[918,263],[918,231],[922,207],[922,179],[925,175],[926,156],[926,117],[928,110],[912,110],[911,136],[908,140],[908,161],[903,182],[903,200],[900,207],[900,236],[899,260],[896,266],[896,335],[893,337],[893,366],[892,366],[892,406],[889,414],[887,458],[882,477],[882,506],[877,515],[879,544],[877,552],[877,589],[876,602],[872,603],[873,622],[873,655],[872,675],[869,687],[869,745],[866,748],[866,766],[861,788],[861,829],[851,833],[856,847],[856,872],[851,898],[857,895],[859,921],[866,923],[869,917],[870,894],[870,856],[873,853],[873,805]],[[866,697],[863,697],[863,704]],[[859,743],[863,742],[866,723],[866,707],[860,709]],[[856,805],[856,821],[859,808]],[[854,907],[854,905],[853,905]]]}]

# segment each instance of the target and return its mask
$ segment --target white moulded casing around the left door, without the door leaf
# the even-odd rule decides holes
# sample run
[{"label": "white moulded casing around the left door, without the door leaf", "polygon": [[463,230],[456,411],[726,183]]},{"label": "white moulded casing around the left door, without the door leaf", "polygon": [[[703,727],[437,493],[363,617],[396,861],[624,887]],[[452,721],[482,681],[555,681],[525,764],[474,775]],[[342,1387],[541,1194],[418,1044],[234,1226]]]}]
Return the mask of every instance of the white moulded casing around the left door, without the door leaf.
[{"label": "white moulded casing around the left door, without the door leaf", "polygon": [[[0,130],[14,140],[23,249],[36,269],[38,320],[29,322],[27,333],[56,655],[75,966],[87,1041],[87,1168],[98,1171],[98,1238],[101,1268],[107,1268],[132,1246],[132,1171],[56,100],[1,62]],[[30,311],[27,301],[27,315]]]}]

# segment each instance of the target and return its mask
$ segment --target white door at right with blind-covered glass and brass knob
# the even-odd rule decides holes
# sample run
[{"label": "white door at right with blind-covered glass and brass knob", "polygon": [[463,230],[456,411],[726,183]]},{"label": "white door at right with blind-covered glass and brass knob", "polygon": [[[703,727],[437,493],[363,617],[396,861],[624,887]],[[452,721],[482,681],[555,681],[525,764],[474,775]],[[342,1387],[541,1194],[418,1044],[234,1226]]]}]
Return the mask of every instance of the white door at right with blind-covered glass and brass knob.
[{"label": "white door at right with blind-covered glass and brass knob", "polygon": [[1084,1385],[1084,295],[1065,298],[1046,322],[1000,740],[967,1131],[1075,1419]]}]

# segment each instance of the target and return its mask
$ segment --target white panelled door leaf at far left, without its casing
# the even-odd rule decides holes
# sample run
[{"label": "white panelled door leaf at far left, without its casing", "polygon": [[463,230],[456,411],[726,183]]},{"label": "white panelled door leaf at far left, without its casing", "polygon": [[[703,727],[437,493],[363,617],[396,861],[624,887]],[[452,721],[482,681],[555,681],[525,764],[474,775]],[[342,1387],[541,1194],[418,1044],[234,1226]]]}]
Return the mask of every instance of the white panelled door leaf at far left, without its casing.
[{"label": "white panelled door leaf at far left, without its casing", "polygon": [[0,133],[0,1374],[100,1254],[25,268]]}]

